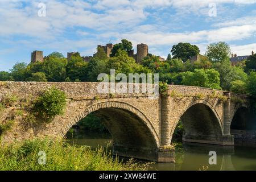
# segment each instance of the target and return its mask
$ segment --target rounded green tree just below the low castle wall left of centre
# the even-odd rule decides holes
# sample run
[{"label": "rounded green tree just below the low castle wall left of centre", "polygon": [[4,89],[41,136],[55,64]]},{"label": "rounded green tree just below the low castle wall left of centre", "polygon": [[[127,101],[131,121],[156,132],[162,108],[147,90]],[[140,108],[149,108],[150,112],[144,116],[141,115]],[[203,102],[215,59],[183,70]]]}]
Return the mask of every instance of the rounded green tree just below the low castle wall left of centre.
[{"label": "rounded green tree just below the low castle wall left of centre", "polygon": [[86,81],[87,66],[88,63],[82,60],[82,57],[71,56],[66,66],[67,77],[69,77],[71,81],[75,81],[76,79]]}]

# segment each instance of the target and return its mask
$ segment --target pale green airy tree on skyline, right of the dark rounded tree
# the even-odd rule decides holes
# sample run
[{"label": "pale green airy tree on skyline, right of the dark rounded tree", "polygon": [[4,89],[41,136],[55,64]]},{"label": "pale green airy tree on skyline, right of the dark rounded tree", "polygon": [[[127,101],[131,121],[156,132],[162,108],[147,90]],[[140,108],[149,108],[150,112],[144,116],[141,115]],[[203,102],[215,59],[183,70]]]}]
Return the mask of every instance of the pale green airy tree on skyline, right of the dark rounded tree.
[{"label": "pale green airy tree on skyline, right of the dark rounded tree", "polygon": [[205,52],[205,56],[209,58],[209,60],[213,62],[224,61],[229,58],[231,51],[229,44],[225,42],[213,43],[207,46],[207,51]]}]

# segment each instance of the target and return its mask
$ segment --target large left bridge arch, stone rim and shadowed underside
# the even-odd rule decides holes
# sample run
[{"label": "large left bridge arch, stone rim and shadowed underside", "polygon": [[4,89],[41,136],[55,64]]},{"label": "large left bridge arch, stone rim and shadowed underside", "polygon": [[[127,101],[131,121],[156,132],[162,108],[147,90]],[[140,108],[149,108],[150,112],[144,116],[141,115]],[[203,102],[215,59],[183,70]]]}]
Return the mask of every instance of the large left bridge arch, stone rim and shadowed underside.
[{"label": "large left bridge arch, stone rim and shadowed underside", "polygon": [[155,160],[155,152],[160,145],[158,134],[141,111],[125,102],[106,101],[86,107],[63,128],[63,137],[90,113],[98,115],[112,135],[113,154]]}]

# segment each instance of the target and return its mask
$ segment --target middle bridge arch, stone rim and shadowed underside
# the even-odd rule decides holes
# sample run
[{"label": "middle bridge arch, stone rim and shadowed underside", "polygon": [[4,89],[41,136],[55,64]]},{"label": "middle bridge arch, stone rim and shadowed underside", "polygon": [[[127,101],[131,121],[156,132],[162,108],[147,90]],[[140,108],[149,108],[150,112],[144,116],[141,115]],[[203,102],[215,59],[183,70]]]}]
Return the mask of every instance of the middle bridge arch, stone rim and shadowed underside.
[{"label": "middle bridge arch, stone rim and shadowed underside", "polygon": [[184,142],[224,144],[221,119],[208,101],[193,101],[185,107],[179,118],[184,126]]}]

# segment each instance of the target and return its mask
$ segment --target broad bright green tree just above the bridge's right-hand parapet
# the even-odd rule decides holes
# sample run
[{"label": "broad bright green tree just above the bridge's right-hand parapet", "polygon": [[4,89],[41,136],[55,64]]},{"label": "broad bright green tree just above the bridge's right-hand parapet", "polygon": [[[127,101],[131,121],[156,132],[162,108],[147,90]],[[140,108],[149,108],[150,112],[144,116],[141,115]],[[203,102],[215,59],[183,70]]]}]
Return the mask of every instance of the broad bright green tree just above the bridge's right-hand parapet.
[{"label": "broad bright green tree just above the bridge's right-hand parapet", "polygon": [[195,72],[184,72],[182,75],[183,85],[221,89],[220,74],[214,69],[195,69]]}]

